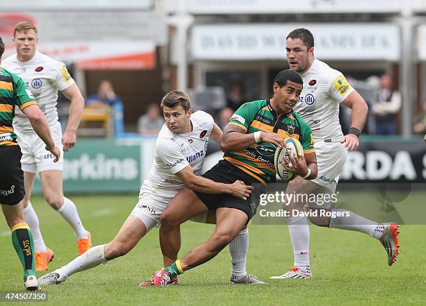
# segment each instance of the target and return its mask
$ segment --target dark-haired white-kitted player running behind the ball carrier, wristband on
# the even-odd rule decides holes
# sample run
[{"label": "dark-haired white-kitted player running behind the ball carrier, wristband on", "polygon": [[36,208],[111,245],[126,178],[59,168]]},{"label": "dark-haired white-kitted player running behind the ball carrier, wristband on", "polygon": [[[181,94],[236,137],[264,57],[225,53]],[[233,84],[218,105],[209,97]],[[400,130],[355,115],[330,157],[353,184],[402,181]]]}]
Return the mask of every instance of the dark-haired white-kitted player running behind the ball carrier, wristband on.
[{"label": "dark-haired white-kitted player running behind the ball carrier, wristband on", "polygon": [[[315,58],[314,38],[306,28],[290,32],[285,49],[290,69],[297,71],[303,78],[303,90],[294,110],[313,130],[318,164],[318,176],[315,180],[304,180],[298,176],[288,185],[287,193],[334,193],[339,173],[346,162],[347,151],[355,151],[359,146],[358,137],[365,124],[368,106],[340,71]],[[352,109],[351,128],[345,136],[338,119],[340,103]],[[302,210],[303,204],[291,203],[289,208]],[[324,210],[324,207],[310,208],[310,211],[315,210]],[[364,232],[379,239],[388,255],[388,264],[393,265],[398,254],[397,224],[379,224],[347,210],[333,211],[339,213],[336,218],[310,216],[310,221],[318,226]],[[291,216],[287,218],[287,224],[294,250],[294,267],[283,275],[271,278],[312,278],[309,262],[310,233],[306,217]]]}]

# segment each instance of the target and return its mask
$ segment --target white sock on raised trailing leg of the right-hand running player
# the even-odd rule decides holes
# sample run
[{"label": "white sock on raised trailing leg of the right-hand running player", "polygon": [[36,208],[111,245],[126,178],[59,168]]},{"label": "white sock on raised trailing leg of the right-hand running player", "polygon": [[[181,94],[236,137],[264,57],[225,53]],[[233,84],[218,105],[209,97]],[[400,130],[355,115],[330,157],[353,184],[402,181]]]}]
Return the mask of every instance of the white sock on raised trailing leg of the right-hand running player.
[{"label": "white sock on raised trailing leg of the right-hand running player", "polygon": [[330,219],[330,228],[340,228],[342,230],[354,230],[356,232],[364,232],[376,239],[380,239],[384,231],[383,224],[365,219],[349,210],[336,209],[332,212],[338,212],[336,218]]}]

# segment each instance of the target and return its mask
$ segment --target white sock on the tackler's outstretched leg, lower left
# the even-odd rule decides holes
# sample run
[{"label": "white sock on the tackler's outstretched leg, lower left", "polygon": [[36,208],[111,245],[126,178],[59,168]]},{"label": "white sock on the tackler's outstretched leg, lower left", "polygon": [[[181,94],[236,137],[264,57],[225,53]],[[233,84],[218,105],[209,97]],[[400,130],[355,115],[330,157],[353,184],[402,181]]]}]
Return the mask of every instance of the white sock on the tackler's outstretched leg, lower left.
[{"label": "white sock on the tackler's outstretched leg, lower left", "polygon": [[93,246],[89,248],[86,253],[81,254],[79,257],[72,260],[61,268],[61,273],[69,278],[72,274],[95,268],[100,264],[106,264],[108,260],[104,257],[105,244],[100,246]]}]

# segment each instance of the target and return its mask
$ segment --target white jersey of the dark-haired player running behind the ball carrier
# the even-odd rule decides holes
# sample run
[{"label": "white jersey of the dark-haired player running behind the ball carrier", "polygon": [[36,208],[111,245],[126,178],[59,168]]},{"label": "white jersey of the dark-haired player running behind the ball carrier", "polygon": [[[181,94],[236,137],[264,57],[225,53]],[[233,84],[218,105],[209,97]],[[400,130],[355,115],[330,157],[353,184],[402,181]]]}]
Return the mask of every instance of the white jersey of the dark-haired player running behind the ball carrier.
[{"label": "white jersey of the dark-haired player running behind the ball carrier", "polygon": [[339,104],[354,90],[343,74],[315,59],[301,74],[303,90],[294,110],[309,124],[314,139],[341,139]]}]

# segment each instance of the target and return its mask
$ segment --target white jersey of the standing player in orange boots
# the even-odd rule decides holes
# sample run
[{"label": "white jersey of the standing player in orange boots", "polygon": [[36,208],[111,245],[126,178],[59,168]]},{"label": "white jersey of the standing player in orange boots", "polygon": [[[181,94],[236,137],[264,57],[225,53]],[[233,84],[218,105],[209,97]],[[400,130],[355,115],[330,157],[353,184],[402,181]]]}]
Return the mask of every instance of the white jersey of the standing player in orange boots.
[{"label": "white jersey of the standing player in orange boots", "polygon": [[[58,121],[58,90],[65,90],[75,83],[65,64],[36,51],[34,57],[27,62],[19,62],[17,55],[13,54],[1,62],[1,67],[24,80],[36,98],[38,107],[45,114],[49,126],[55,124]],[[33,130],[28,118],[19,108],[15,108],[13,126],[17,130]]]}]

